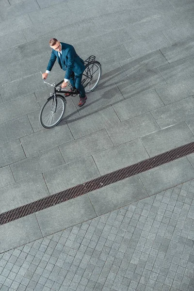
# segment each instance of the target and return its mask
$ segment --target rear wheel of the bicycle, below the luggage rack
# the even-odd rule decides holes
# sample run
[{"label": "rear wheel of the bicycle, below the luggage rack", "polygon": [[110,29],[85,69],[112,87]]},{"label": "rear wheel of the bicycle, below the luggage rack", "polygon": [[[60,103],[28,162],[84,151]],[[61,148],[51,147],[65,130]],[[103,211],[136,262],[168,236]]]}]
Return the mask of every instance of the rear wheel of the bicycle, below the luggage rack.
[{"label": "rear wheel of the bicycle, below the luggage rack", "polygon": [[85,89],[85,93],[90,93],[96,89],[101,75],[102,67],[99,62],[94,61],[86,65],[81,80],[81,84]]}]

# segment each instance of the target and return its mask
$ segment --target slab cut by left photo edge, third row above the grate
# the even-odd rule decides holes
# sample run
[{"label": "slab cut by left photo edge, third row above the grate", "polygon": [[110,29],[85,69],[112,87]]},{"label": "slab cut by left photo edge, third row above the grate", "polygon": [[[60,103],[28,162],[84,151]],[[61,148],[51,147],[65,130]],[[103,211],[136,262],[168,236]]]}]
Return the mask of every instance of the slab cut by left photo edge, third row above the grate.
[{"label": "slab cut by left photo edge, third row above the grate", "polygon": [[26,156],[19,140],[0,146],[0,168],[25,158]]}]

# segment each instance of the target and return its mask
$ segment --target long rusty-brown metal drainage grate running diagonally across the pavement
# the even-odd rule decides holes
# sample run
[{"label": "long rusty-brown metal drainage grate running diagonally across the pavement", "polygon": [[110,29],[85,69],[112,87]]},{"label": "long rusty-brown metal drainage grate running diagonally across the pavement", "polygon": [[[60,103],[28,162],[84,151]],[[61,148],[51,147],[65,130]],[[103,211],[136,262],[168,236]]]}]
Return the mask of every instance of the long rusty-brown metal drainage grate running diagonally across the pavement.
[{"label": "long rusty-brown metal drainage grate running diagonally across the pavement", "polygon": [[175,149],[169,150],[153,158],[149,158],[142,162],[138,162],[128,167],[119,169],[112,173],[103,175],[99,178],[95,178],[83,184],[66,189],[65,191],[61,191],[59,193],[44,197],[32,203],[1,213],[0,225],[6,224],[8,222],[14,221],[24,216],[30,215],[37,211],[47,209],[51,206],[60,204],[67,200],[70,200],[75,197],[81,196],[83,194],[89,193],[91,191],[100,189],[104,186],[121,181],[125,178],[129,178],[131,176],[140,174],[142,172],[153,169],[167,162],[172,162],[174,160],[177,160],[181,157],[187,156],[192,153],[194,153],[194,142],[184,145],[184,146],[179,146]]}]

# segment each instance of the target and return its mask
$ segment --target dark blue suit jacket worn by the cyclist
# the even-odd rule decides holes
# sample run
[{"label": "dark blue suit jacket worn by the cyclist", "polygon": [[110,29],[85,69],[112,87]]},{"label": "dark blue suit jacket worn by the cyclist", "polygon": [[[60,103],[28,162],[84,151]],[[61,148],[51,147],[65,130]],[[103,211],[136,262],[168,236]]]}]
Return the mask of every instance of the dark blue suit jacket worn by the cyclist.
[{"label": "dark blue suit jacket worn by the cyclist", "polygon": [[64,79],[69,80],[72,71],[75,73],[75,75],[80,75],[85,70],[85,65],[84,65],[84,61],[77,55],[73,46],[65,44],[65,43],[61,43],[61,46],[62,46],[62,59],[63,59],[64,65],[61,64],[58,51],[52,49],[49,64],[47,66],[47,70],[51,71],[57,59],[60,67],[66,70]]}]

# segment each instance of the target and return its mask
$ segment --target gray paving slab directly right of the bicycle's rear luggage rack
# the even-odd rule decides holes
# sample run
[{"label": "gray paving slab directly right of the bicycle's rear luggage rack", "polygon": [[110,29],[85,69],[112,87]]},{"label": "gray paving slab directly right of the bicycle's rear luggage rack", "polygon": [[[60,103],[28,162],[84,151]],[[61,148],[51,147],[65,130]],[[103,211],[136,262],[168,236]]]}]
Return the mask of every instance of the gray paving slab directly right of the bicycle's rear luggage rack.
[{"label": "gray paving slab directly right of the bicycle's rear luggage rack", "polygon": [[129,52],[124,47],[123,44],[119,46],[115,46],[111,49],[101,49],[101,51],[95,53],[97,57],[97,61],[99,60],[100,64],[103,67],[104,74],[104,66],[111,66],[114,64],[118,64],[119,62],[128,60],[131,58]]}]

